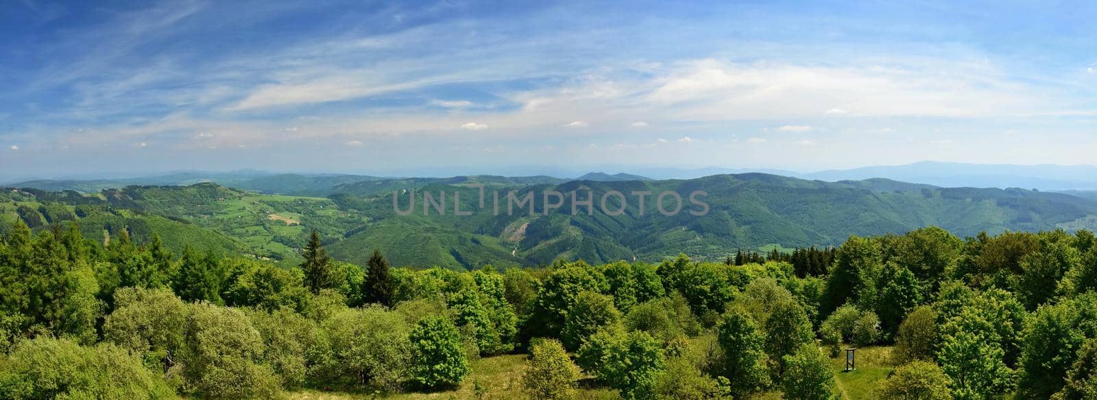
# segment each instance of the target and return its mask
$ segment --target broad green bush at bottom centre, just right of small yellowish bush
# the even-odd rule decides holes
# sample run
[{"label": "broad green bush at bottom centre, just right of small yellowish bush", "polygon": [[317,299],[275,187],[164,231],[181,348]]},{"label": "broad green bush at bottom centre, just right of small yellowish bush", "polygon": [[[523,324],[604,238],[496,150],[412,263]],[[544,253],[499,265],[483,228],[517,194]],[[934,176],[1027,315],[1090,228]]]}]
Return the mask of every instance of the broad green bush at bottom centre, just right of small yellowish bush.
[{"label": "broad green bush at bottom centre, just right of small yellowish bush", "polygon": [[577,358],[579,366],[625,399],[652,398],[666,369],[659,342],[646,332],[599,332],[583,344]]}]

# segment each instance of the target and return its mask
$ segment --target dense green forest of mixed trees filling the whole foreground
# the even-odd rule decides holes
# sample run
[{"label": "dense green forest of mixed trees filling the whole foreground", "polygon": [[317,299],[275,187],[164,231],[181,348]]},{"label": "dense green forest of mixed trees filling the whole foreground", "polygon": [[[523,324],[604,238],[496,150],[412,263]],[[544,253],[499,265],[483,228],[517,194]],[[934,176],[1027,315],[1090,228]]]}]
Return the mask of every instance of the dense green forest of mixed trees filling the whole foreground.
[{"label": "dense green forest of mixed trees filling the whole foreground", "polygon": [[[168,251],[76,223],[0,245],[0,398],[1093,399],[1088,231],[471,271]],[[382,249],[383,251],[383,249]],[[844,348],[857,369],[844,371]]]}]

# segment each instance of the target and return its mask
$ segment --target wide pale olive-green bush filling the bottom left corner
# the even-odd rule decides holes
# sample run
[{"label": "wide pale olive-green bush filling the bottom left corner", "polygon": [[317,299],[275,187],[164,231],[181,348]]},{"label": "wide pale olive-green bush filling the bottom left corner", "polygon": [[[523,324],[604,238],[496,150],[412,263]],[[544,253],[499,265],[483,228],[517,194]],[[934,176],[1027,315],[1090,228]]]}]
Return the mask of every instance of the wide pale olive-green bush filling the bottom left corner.
[{"label": "wide pale olive-green bush filling the bottom left corner", "polygon": [[20,342],[0,362],[0,398],[173,399],[176,393],[159,374],[113,344],[81,347],[38,337]]}]

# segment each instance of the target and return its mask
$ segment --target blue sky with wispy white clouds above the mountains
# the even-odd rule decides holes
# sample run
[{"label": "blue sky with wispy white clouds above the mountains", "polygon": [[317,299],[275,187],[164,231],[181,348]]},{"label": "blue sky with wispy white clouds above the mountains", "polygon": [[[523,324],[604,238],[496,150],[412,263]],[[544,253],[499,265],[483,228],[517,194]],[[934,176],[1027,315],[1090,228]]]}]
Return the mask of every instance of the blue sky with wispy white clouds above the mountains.
[{"label": "blue sky with wispy white clouds above the mountains", "polygon": [[1036,1],[8,1],[0,177],[1097,164],[1095,19]]}]

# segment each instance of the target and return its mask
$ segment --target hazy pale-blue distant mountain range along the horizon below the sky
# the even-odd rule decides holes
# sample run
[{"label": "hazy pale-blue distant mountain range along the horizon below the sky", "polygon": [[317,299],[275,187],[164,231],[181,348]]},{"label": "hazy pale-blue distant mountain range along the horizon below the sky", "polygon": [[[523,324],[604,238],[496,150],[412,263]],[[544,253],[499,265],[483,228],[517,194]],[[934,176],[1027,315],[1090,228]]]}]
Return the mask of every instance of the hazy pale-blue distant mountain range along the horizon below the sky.
[{"label": "hazy pale-blue distant mountain range along the horizon below the sky", "polygon": [[[658,167],[618,167],[615,170],[629,173],[606,174],[591,171],[576,175],[576,178],[559,178],[551,175],[498,176],[466,175],[455,177],[381,177],[352,174],[274,174],[253,170],[230,173],[182,171],[149,177],[118,179],[36,179],[9,182],[3,186],[26,187],[42,190],[77,190],[94,192],[108,188],[123,188],[131,185],[191,185],[212,181],[218,185],[257,190],[265,193],[297,196],[328,196],[343,191],[341,188],[363,182],[404,181],[412,184],[446,182],[454,179],[480,179],[488,184],[557,184],[568,180],[626,181],[695,179],[725,174],[769,174],[802,179],[817,179],[830,182],[842,180],[866,180],[884,178],[902,182],[924,184],[937,187],[972,188],[1025,188],[1052,191],[1097,190],[1097,166],[1078,165],[1008,165],[920,162],[896,166],[870,166],[852,169],[830,169],[815,173],[798,173],[769,168],[695,168],[676,169]],[[384,184],[378,184],[384,186]]]}]

